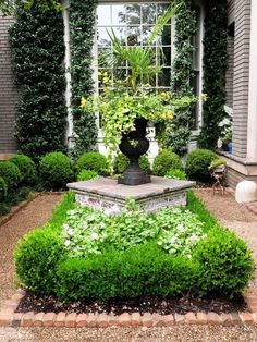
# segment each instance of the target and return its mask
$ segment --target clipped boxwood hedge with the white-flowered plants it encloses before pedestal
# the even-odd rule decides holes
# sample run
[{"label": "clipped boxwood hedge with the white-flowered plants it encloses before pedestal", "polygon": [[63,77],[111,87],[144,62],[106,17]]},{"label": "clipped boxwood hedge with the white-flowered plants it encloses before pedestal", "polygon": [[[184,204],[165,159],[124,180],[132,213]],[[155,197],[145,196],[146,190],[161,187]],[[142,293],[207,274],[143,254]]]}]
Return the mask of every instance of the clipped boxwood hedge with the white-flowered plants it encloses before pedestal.
[{"label": "clipped boxwood hedge with the white-flowered plants it encloses before pedestal", "polygon": [[[68,193],[52,219],[25,235],[14,258],[21,283],[63,301],[241,293],[253,277],[246,244],[188,193],[186,208],[119,216],[82,208]],[[41,257],[44,255],[44,258]]]}]

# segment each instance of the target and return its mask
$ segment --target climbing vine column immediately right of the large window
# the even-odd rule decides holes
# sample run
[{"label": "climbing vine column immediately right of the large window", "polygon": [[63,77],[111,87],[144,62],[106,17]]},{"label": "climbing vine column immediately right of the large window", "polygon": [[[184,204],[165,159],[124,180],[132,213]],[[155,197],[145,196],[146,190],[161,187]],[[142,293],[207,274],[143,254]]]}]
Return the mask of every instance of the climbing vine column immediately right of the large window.
[{"label": "climbing vine column immediately right of the large window", "polygon": [[[181,1],[180,1],[181,2]],[[191,81],[194,77],[192,37],[197,29],[196,12],[192,0],[184,0],[175,15],[175,57],[172,65],[171,87],[178,97],[194,96]],[[193,106],[176,110],[172,124],[167,125],[163,145],[183,155],[191,136]]]}]

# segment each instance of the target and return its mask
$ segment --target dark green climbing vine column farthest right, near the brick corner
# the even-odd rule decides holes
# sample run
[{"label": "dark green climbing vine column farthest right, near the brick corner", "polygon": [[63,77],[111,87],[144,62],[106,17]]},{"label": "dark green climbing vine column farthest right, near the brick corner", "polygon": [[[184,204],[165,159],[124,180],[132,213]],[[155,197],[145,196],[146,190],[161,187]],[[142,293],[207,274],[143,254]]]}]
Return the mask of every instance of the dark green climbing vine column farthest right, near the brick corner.
[{"label": "dark green climbing vine column farthest right, near the brick corner", "polygon": [[203,127],[199,145],[215,148],[220,136],[219,122],[225,117],[227,1],[208,0],[205,19],[204,93],[208,95],[203,107]]}]

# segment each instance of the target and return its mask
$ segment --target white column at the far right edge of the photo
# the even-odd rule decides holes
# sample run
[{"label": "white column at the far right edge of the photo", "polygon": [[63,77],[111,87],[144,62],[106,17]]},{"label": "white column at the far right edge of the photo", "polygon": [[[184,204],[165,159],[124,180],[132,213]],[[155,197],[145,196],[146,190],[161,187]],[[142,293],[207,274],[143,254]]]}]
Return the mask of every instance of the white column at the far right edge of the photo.
[{"label": "white column at the far right edge of the photo", "polygon": [[257,161],[257,1],[250,7],[247,160]]}]

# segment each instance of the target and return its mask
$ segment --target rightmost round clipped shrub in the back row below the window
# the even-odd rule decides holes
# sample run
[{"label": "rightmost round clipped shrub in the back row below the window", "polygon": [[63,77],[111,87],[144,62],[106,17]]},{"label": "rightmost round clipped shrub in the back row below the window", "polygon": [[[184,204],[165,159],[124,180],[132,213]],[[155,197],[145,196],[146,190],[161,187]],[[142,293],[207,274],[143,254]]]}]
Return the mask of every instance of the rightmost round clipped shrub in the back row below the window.
[{"label": "rightmost round clipped shrub in the back row below the window", "polygon": [[196,149],[188,154],[186,160],[186,174],[197,181],[208,182],[211,179],[209,166],[217,155],[209,149]]}]

